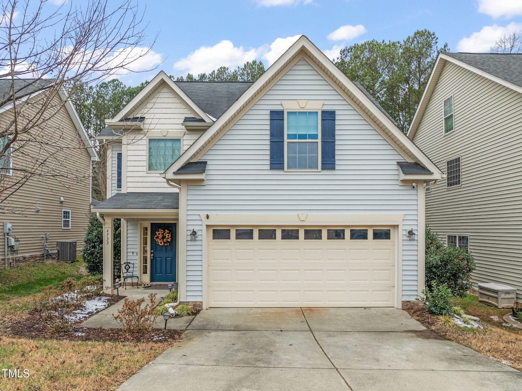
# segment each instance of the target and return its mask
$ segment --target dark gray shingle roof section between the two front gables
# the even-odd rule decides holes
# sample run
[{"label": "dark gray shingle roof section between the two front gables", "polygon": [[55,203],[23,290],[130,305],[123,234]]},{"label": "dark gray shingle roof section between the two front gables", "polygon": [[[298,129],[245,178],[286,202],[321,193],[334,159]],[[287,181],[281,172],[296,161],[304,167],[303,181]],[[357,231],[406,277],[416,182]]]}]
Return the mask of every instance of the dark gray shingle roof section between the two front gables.
[{"label": "dark gray shingle roof section between the two front gables", "polygon": [[176,81],[201,110],[218,119],[252,85],[252,81]]}]

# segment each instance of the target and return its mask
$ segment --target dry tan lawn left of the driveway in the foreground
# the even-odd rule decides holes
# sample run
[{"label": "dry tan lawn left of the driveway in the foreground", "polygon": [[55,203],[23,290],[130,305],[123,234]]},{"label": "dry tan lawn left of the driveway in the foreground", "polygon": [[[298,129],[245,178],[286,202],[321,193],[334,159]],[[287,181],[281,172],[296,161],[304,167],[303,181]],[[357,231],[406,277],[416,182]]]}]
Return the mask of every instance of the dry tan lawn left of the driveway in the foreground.
[{"label": "dry tan lawn left of the driveway in the foreground", "polygon": [[2,337],[0,368],[29,370],[27,378],[2,378],[3,391],[114,390],[171,343],[72,342]]}]

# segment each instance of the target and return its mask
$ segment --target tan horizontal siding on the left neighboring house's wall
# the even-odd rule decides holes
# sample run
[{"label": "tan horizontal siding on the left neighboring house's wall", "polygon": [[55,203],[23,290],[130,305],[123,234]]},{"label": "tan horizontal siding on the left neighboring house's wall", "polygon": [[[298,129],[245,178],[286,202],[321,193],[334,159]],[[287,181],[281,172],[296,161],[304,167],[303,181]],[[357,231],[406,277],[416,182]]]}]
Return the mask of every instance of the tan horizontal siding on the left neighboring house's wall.
[{"label": "tan horizontal siding on the left neighboring house's wall", "polygon": [[[53,104],[59,105],[60,100],[55,98]],[[12,116],[10,111],[0,114],[0,126],[6,126]],[[62,167],[56,167],[56,170],[63,172],[64,167],[67,167],[66,170],[72,177],[32,177],[13,197],[3,203],[0,214],[0,267],[4,265],[4,222],[13,223],[12,234],[20,240],[17,256],[41,254],[42,236],[45,233],[49,233],[48,244],[51,252],[56,252],[56,241],[62,240],[74,240],[77,242],[77,250],[83,248],[90,213],[90,156],[65,108],[62,107],[58,114],[46,123],[45,131],[48,133],[44,133],[42,139],[49,145],[42,150],[37,146],[26,146],[22,151],[15,151],[14,166],[32,167],[30,163],[24,162],[25,152],[31,153],[32,156],[39,155],[42,159],[54,156],[62,164]],[[50,170],[49,174],[52,172]],[[17,174],[14,172],[13,177],[6,180],[16,180],[16,177]],[[64,197],[63,203],[60,203],[60,197]],[[41,208],[38,212],[35,210],[37,206]],[[62,229],[62,209],[71,211],[70,229]],[[12,262],[12,259],[10,261]]]}]

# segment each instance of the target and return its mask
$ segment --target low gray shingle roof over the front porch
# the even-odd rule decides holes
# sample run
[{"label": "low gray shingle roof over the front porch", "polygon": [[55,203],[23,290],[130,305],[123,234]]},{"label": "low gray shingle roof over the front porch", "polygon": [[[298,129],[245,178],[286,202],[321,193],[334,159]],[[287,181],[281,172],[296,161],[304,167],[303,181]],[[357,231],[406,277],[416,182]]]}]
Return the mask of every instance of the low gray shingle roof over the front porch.
[{"label": "low gray shingle roof over the front porch", "polygon": [[92,209],[179,209],[179,193],[117,193]]}]

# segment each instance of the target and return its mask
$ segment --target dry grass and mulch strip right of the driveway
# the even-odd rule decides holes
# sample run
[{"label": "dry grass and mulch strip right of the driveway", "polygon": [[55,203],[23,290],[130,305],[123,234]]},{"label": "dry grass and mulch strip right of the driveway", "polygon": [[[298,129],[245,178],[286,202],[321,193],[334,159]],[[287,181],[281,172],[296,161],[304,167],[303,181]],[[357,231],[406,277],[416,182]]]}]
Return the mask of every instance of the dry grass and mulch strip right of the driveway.
[{"label": "dry grass and mulch strip right of the driveway", "polygon": [[[522,329],[503,326],[502,316],[498,315],[506,313],[506,310],[482,307],[482,303],[478,305],[479,311],[473,311],[475,307],[477,305],[470,304],[465,311],[468,315],[481,318],[482,329],[445,324],[441,322],[440,317],[425,312],[421,302],[407,303],[403,309],[438,335],[522,370]],[[490,316],[497,316],[499,320],[496,321]]]}]

